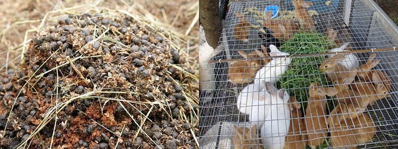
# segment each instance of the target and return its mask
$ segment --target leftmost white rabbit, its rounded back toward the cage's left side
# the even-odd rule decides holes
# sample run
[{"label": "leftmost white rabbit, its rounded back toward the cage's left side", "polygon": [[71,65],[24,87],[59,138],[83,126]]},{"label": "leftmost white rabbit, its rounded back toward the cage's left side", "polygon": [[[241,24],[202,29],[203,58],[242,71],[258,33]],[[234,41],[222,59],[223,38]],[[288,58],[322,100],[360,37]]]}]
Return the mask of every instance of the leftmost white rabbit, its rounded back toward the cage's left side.
[{"label": "leftmost white rabbit, its rounded back toward the cage's left side", "polygon": [[[251,113],[253,103],[258,103],[257,99],[259,99],[259,97],[261,96],[265,96],[265,91],[261,91],[263,90],[264,86],[265,81],[256,81],[253,84],[249,84],[242,89],[236,102],[236,106],[238,107],[240,112],[245,114]],[[253,101],[253,99],[255,101]]]}]

